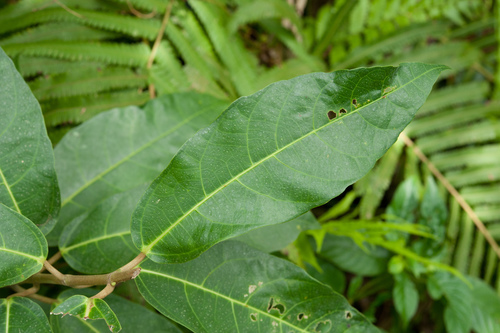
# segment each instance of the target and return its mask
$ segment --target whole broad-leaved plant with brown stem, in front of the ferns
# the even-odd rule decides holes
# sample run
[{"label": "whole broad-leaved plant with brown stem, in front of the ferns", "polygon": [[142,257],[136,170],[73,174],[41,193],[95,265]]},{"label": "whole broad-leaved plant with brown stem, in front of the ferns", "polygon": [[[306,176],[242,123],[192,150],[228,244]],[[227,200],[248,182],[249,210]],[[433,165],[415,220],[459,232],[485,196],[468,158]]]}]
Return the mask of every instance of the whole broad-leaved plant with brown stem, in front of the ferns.
[{"label": "whole broad-leaved plant with brown stem, in front of the ferns", "polygon": [[[194,331],[376,330],[301,268],[225,240],[256,228],[293,239],[297,225],[317,227],[308,217],[289,222],[291,229],[280,223],[366,174],[445,66],[304,75],[240,98],[220,116],[227,103],[214,97],[166,95],[71,130],[55,162],[38,103],[3,53],[0,69],[0,285],[18,292],[0,304],[7,331],[64,332],[82,325],[79,318],[102,318],[119,331],[115,301],[126,320],[147,311],[103,300],[131,279],[154,308]],[[47,239],[71,268],[97,275],[63,274],[59,253],[47,259]],[[36,294],[46,284],[105,288],[53,299]],[[49,325],[38,305],[19,296],[51,302],[52,313],[73,321],[51,316]],[[142,329],[165,321],[149,316]]]}]

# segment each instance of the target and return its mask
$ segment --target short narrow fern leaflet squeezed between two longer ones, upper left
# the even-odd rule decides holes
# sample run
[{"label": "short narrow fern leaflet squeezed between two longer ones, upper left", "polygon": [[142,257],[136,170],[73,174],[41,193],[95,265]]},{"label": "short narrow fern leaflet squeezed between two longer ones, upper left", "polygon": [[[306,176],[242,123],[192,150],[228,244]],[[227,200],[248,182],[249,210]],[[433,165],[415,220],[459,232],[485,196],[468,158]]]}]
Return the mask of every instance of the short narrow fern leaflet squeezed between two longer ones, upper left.
[{"label": "short narrow fern leaflet squeezed between two longer ones, upper left", "polygon": [[32,57],[20,55],[18,59],[18,70],[23,77],[39,74],[60,74],[74,70],[94,71],[105,68],[100,62],[68,61],[47,57]]}]

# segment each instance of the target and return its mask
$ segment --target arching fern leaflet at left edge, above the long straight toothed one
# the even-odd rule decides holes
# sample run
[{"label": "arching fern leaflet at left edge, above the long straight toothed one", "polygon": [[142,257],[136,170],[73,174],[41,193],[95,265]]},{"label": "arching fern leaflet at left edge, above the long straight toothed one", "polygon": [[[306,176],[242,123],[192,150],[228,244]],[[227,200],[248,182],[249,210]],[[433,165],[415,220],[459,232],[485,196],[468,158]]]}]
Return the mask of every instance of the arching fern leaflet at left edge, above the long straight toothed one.
[{"label": "arching fern leaflet at left edge, above the long straight toothed one", "polygon": [[48,23],[34,28],[24,30],[8,38],[0,40],[0,46],[9,44],[38,43],[43,41],[64,40],[106,40],[115,39],[120,35],[110,32],[96,30],[75,23]]}]

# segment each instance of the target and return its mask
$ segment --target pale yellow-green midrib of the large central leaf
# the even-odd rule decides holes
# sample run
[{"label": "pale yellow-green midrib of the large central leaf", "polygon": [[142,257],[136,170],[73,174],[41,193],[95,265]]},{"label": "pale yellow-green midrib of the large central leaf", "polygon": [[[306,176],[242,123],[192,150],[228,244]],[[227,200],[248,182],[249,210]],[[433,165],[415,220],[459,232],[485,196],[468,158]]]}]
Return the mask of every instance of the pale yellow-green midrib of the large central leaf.
[{"label": "pale yellow-green midrib of the large central leaf", "polygon": [[[427,75],[428,73],[432,72],[432,71],[435,71],[435,70],[438,70],[439,67],[434,67],[422,74],[420,74],[419,76],[417,77],[414,77],[412,80],[408,81],[407,83],[403,84],[402,86],[394,89],[393,91],[385,94],[384,96],[381,96],[379,98],[377,98],[376,100],[366,104],[366,105],[363,105],[351,112],[349,112],[347,115],[345,115],[344,117],[347,117],[351,114],[354,114],[354,113],[358,113],[360,110],[382,100],[382,98],[387,98],[387,96],[389,95],[392,95],[394,93],[396,93],[397,91],[401,90],[402,88],[406,87],[407,85],[409,85],[410,83],[412,83],[413,81],[416,81],[417,79],[419,79],[420,77],[424,76],[424,75]],[[263,159],[261,159],[260,161],[252,164],[249,168],[243,170],[242,172],[240,172],[239,174],[237,174],[236,176],[234,176],[233,178],[231,178],[230,180],[228,180],[226,183],[224,183],[223,185],[219,186],[217,189],[215,189],[212,193],[210,193],[208,196],[206,196],[205,198],[203,198],[203,200],[201,200],[199,203],[197,203],[196,205],[194,205],[191,209],[189,209],[185,214],[183,214],[179,219],[177,219],[174,223],[172,223],[164,232],[162,232],[160,234],[160,236],[158,236],[157,238],[155,238],[151,243],[149,243],[149,245],[147,246],[142,246],[142,249],[141,249],[141,252],[144,253],[144,254],[148,254],[149,252],[151,252],[152,248],[163,238],[165,237],[169,232],[170,230],[172,230],[173,228],[175,228],[180,222],[182,222],[187,216],[189,216],[193,211],[195,211],[196,209],[198,209],[198,207],[200,207],[202,204],[204,204],[208,199],[212,198],[215,194],[219,193],[222,189],[224,189],[226,186],[228,186],[229,184],[231,184],[232,182],[234,182],[235,180],[239,179],[241,176],[245,175],[246,173],[250,172],[251,170],[253,170],[255,167],[261,165],[262,163],[264,163],[265,161],[267,161],[268,159],[276,156],[277,154],[279,154],[280,152],[282,152],[283,150],[291,147],[292,145],[294,145],[295,143],[299,142],[299,141],[302,141],[303,139],[307,138],[308,136],[312,135],[312,134],[315,134],[317,133],[318,131],[322,130],[323,128],[327,127],[327,126],[330,126],[331,124],[333,123],[336,123],[342,119],[344,119],[344,117],[337,117],[336,119],[334,120],[331,120],[329,121],[328,123],[324,124],[323,126],[320,126],[318,128],[315,128],[314,130],[310,131],[309,133],[295,139],[294,141],[290,142],[289,144],[281,147],[280,149],[276,150],[275,152],[273,152],[272,154],[264,157]],[[144,216],[144,215],[143,215]],[[142,217],[141,217],[142,218]],[[142,221],[141,221],[141,239],[142,239]]]}]

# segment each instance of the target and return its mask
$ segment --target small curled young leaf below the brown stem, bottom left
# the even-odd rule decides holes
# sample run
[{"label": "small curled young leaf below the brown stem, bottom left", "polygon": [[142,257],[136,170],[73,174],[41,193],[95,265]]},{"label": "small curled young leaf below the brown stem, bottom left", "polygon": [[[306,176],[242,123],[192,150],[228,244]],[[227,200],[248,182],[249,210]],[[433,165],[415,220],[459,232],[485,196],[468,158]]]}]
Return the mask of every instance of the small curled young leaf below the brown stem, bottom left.
[{"label": "small curled young leaf below the brown stem, bottom left", "polygon": [[50,314],[62,314],[63,316],[69,314],[83,320],[104,319],[111,332],[119,332],[122,329],[113,310],[104,300],[99,298],[88,298],[83,295],[71,296],[59,304]]}]

